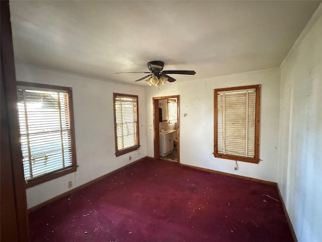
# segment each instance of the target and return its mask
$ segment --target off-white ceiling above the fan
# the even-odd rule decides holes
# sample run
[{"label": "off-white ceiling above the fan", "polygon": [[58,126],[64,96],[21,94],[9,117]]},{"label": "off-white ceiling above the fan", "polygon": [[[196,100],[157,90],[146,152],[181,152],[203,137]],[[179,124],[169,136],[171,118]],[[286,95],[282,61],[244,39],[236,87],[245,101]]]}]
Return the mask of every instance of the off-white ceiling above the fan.
[{"label": "off-white ceiling above the fan", "polygon": [[279,67],[320,1],[11,1],[16,61],[114,82]]}]

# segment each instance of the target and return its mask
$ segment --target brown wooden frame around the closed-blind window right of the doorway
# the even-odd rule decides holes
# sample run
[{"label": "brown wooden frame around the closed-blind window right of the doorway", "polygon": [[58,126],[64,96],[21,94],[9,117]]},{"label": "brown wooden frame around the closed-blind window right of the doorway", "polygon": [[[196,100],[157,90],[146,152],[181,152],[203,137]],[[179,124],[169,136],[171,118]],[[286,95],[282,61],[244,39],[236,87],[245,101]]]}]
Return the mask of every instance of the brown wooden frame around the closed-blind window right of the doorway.
[{"label": "brown wooden frame around the closed-blind window right of the doorway", "polygon": [[[218,92],[231,91],[231,90],[243,90],[243,89],[256,89],[256,107],[255,107],[255,156],[254,158],[227,155],[218,153],[218,140],[217,140],[217,95]],[[258,164],[260,161],[260,110],[261,110],[261,85],[250,85],[250,86],[239,86],[239,87],[229,87],[214,89],[214,156],[217,158],[245,161],[250,163]]]}]

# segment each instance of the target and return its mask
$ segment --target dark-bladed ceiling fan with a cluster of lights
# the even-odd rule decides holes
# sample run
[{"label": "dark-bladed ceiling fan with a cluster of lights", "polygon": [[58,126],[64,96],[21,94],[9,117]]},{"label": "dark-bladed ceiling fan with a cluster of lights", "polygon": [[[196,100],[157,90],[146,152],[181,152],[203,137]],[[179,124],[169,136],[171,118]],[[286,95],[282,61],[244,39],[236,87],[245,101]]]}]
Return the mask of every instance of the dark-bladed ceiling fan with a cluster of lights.
[{"label": "dark-bladed ceiling fan with a cluster of lights", "polygon": [[195,75],[195,71],[162,71],[164,68],[165,64],[164,62],[160,61],[152,61],[147,63],[147,68],[149,69],[150,72],[117,72],[116,74],[120,73],[146,73],[148,75],[135,80],[135,82],[142,81],[144,79],[147,79],[146,82],[150,86],[153,84],[155,86],[159,86],[162,84],[165,84],[167,81],[168,82],[174,82],[176,79],[173,77],[168,76],[167,74],[181,74],[181,75]]}]

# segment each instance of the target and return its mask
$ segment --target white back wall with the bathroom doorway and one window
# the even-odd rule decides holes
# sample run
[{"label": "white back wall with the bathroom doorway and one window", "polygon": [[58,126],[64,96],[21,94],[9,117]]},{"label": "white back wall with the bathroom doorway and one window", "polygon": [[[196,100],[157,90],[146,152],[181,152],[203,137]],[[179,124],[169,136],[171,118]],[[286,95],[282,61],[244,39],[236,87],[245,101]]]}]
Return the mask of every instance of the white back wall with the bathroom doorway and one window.
[{"label": "white back wall with the bathroom doorway and one window", "polygon": [[[196,74],[198,77],[198,73]],[[179,79],[179,75],[176,77]],[[261,138],[259,164],[239,162],[213,156],[215,88],[260,84],[261,95]],[[153,157],[153,103],[152,97],[180,95],[180,162],[193,166],[219,170],[277,181],[278,129],[280,103],[279,69],[249,72],[189,82],[166,83],[159,89],[145,88],[147,155]],[[188,114],[184,117],[184,113]]]}]

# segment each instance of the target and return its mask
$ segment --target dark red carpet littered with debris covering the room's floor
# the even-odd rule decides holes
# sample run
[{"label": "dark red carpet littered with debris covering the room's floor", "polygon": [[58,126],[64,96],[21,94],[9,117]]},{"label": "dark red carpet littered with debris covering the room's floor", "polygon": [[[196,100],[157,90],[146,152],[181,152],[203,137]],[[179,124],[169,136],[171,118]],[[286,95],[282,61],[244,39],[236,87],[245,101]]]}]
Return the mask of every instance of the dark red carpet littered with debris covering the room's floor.
[{"label": "dark red carpet littered with debris covering the room's floor", "polygon": [[31,241],[293,241],[277,189],[144,159],[30,214]]}]

